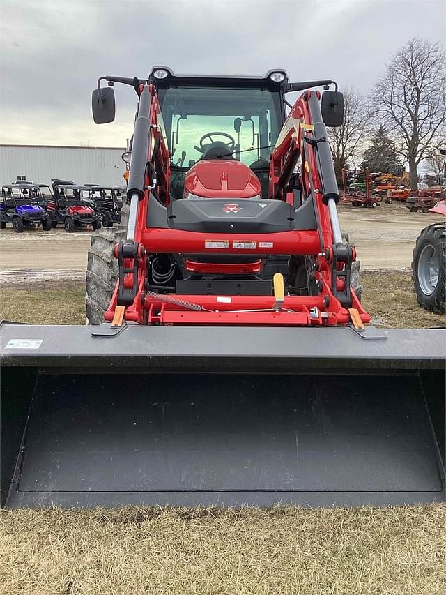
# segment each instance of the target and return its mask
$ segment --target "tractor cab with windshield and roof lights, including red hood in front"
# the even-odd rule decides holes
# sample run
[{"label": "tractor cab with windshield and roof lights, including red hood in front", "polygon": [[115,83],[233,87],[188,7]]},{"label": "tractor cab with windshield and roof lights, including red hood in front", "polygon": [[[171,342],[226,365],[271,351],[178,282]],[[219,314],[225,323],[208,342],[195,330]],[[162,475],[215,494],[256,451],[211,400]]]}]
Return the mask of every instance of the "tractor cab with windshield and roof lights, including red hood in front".
[{"label": "tractor cab with windshield and roof lights, including red hood in front", "polygon": [[285,119],[284,71],[175,75],[153,68],[171,155],[170,199],[268,197],[270,153]]}]

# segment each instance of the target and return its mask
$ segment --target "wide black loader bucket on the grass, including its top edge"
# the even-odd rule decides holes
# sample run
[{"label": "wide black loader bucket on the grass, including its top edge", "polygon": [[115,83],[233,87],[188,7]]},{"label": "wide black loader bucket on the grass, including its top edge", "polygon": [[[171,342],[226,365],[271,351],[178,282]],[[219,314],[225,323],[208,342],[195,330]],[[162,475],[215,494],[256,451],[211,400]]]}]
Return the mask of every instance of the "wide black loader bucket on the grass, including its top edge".
[{"label": "wide black loader bucket on the grass, including its top edge", "polygon": [[445,501],[442,330],[2,324],[0,339],[2,506]]}]

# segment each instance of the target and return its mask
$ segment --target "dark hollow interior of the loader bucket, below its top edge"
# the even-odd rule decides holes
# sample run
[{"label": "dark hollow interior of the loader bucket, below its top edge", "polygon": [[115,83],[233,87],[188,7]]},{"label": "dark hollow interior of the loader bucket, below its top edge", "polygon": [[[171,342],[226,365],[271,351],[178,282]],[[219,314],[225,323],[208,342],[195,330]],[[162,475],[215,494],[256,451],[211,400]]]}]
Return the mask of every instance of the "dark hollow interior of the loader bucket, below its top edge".
[{"label": "dark hollow interior of the loader bucket, below its top edge", "polygon": [[3,505],[445,499],[441,371],[118,372],[3,370]]}]

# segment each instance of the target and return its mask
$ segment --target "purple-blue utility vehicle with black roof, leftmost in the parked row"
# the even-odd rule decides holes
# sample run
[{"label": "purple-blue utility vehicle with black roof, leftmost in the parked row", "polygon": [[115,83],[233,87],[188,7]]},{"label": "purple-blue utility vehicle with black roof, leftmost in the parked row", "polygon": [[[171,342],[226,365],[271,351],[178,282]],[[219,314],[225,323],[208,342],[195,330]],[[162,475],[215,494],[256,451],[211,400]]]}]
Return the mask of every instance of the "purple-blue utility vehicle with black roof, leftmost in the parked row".
[{"label": "purple-blue utility vehicle with black roof, leftmost in the parked row", "polygon": [[38,227],[48,232],[52,229],[51,215],[45,211],[45,202],[38,186],[5,184],[1,188],[0,227],[13,224],[19,234],[24,227]]}]

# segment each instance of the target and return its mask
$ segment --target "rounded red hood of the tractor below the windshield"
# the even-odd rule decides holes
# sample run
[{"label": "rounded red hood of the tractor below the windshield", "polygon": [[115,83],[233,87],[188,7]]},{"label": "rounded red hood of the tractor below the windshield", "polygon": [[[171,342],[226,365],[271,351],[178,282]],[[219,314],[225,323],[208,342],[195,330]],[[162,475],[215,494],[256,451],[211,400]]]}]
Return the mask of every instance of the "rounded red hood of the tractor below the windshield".
[{"label": "rounded red hood of the tractor below the windshield", "polygon": [[253,198],[261,194],[259,179],[245,163],[233,159],[202,160],[185,177],[185,198]]}]

